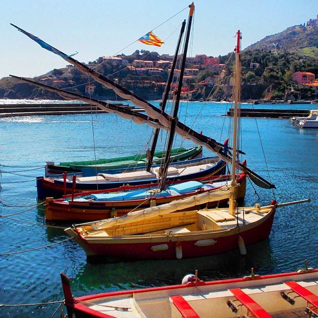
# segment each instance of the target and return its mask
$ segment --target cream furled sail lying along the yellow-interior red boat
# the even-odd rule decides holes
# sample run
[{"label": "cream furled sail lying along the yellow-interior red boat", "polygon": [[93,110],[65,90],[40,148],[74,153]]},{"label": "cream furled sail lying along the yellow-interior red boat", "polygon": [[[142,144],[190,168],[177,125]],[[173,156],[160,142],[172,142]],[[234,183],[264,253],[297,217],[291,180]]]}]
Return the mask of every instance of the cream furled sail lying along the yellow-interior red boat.
[{"label": "cream furled sail lying along the yellow-interior red boat", "polygon": [[175,200],[175,201],[172,201],[171,203],[162,204],[159,206],[147,208],[140,211],[129,212],[128,214],[122,217],[102,220],[98,222],[80,224],[80,225],[77,225],[77,227],[89,225],[94,230],[102,230],[102,229],[110,228],[115,225],[143,221],[145,219],[151,219],[160,215],[189,209],[191,207],[199,206],[201,204],[206,204],[208,202],[228,199],[229,197],[230,197],[230,189],[227,186],[224,186],[215,191],[209,191],[206,193],[193,195],[185,199]]}]

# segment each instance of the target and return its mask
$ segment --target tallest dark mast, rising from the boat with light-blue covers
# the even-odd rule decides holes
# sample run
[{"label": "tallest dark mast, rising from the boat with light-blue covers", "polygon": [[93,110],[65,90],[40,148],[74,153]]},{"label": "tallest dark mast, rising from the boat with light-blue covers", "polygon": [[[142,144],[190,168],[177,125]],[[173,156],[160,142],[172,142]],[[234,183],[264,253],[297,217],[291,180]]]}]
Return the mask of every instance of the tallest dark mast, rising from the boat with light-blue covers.
[{"label": "tallest dark mast, rising from the boat with light-blue covers", "polygon": [[189,13],[189,20],[188,20],[188,26],[187,26],[187,33],[185,36],[185,42],[184,42],[184,48],[183,48],[183,55],[182,55],[182,61],[181,61],[181,66],[180,66],[180,77],[179,77],[179,83],[178,83],[178,88],[177,88],[177,93],[175,97],[175,105],[173,109],[173,115],[171,117],[171,128],[170,128],[170,134],[169,134],[169,140],[168,140],[168,146],[164,158],[164,163],[163,163],[163,168],[162,168],[162,174],[161,174],[161,179],[160,179],[160,186],[159,189],[162,191],[165,186],[165,178],[167,176],[168,172],[168,166],[169,166],[169,159],[171,155],[171,148],[172,148],[172,143],[173,143],[173,138],[174,138],[174,132],[175,132],[175,127],[178,122],[178,110],[179,110],[179,101],[180,101],[180,96],[181,96],[181,88],[182,88],[182,81],[183,81],[183,74],[184,74],[184,68],[185,68],[185,60],[187,57],[187,50],[188,50],[188,43],[189,43],[189,38],[190,38],[190,30],[191,30],[191,22],[192,22],[192,17],[194,13],[194,3],[192,2],[190,5],[190,13]]}]

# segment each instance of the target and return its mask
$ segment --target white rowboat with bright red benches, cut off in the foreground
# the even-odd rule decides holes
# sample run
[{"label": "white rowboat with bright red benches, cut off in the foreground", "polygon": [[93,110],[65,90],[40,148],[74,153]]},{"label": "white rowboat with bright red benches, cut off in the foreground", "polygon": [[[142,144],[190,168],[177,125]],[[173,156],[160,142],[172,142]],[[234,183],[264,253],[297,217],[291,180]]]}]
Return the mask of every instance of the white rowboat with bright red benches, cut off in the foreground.
[{"label": "white rowboat with bright red benches, cut off in the foreground", "polygon": [[[74,298],[61,273],[68,317],[77,318],[300,318],[317,317],[318,269],[182,285],[124,290]],[[64,315],[64,313],[63,313]],[[61,317],[63,317],[61,315]],[[65,316],[64,316],[65,317]]]}]

